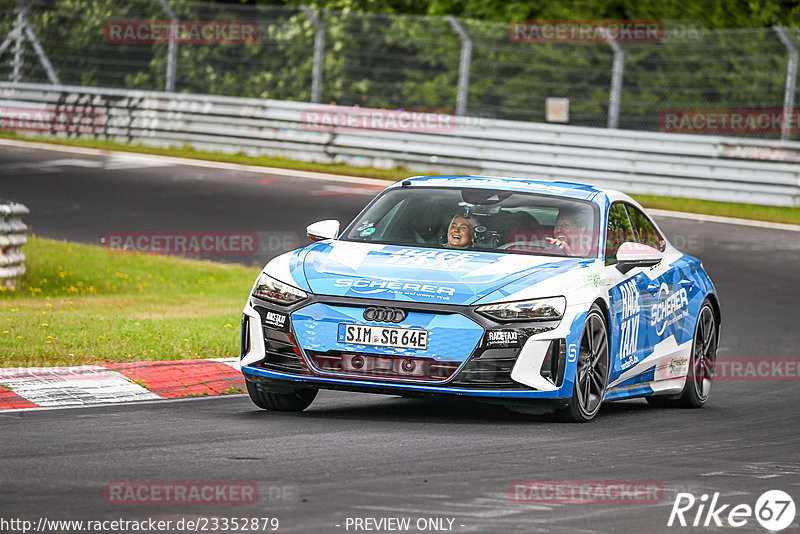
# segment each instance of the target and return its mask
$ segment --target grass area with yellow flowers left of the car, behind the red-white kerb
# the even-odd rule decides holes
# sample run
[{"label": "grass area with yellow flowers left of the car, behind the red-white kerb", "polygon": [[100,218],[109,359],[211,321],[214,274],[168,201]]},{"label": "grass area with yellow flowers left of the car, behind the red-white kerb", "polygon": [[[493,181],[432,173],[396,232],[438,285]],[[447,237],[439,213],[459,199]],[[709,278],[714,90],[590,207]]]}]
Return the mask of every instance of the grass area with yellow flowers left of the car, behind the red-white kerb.
[{"label": "grass area with yellow flowers left of the car, behind the red-white kerb", "polygon": [[254,269],[32,237],[0,291],[0,367],[238,354]]}]

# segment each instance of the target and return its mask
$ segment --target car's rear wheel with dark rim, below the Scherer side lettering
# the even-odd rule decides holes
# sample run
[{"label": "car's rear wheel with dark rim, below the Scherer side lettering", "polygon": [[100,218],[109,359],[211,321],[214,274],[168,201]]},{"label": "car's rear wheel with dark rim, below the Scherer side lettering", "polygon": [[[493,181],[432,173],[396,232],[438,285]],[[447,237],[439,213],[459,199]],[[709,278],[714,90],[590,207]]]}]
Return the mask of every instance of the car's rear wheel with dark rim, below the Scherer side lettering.
[{"label": "car's rear wheel with dark rim, below the Scherer side lettering", "polygon": [[714,380],[718,341],[717,319],[714,309],[706,300],[697,314],[692,353],[689,356],[689,372],[683,391],[677,397],[647,397],[647,402],[655,407],[674,408],[701,408],[705,405]]}]

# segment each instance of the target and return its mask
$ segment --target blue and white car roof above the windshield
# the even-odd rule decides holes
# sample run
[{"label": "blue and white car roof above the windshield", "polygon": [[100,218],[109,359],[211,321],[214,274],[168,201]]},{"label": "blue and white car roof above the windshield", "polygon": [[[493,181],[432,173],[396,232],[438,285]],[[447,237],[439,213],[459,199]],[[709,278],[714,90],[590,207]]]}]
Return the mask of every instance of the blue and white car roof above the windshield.
[{"label": "blue and white car roof above the windshield", "polygon": [[443,176],[413,176],[400,180],[394,187],[402,187],[403,183],[411,185],[437,186],[437,187],[472,187],[479,189],[500,189],[507,191],[520,191],[528,193],[541,193],[579,200],[596,200],[598,194],[608,198],[627,195],[618,191],[600,189],[587,184],[574,182],[533,180],[529,178],[510,178],[506,176],[476,176],[476,175],[443,175]]}]

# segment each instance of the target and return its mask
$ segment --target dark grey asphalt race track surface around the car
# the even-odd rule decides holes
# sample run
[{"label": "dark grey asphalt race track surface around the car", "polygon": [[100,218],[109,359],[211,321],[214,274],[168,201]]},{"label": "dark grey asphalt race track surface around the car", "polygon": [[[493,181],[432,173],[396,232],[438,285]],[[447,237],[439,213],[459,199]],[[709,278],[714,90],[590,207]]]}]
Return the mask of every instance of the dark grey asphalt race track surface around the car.
[{"label": "dark grey asphalt race track surface around the car", "polygon": [[[25,220],[40,236],[89,243],[137,231],[271,237],[258,254],[217,256],[253,266],[283,245],[305,244],[310,222],[348,221],[377,190],[7,146],[0,147],[0,184],[0,196],[31,208]],[[720,360],[796,359],[800,232],[659,223],[674,244],[702,258],[716,283]],[[733,507],[780,489],[800,502],[798,401],[795,379],[718,382],[701,410],[611,403],[587,425],[332,391],[300,414],[258,410],[246,395],[5,413],[0,517],[276,517],[278,532],[366,531],[355,518],[389,517],[412,518],[410,532],[419,531],[419,518],[441,522],[423,525],[427,532],[698,532],[667,527],[677,492],[698,499],[719,492],[719,503]],[[588,480],[652,481],[663,499],[518,503],[509,494],[514,481]],[[241,506],[132,506],[104,496],[107,484],[144,481],[249,482],[259,498]],[[800,518],[784,532],[798,525]],[[766,532],[753,518],[732,530]]]}]

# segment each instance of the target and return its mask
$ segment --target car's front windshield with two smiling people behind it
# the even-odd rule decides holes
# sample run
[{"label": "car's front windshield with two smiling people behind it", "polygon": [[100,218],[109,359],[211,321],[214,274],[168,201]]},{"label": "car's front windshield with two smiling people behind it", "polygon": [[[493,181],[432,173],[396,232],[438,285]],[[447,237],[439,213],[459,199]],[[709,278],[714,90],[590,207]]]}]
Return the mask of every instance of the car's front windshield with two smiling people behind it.
[{"label": "car's front windshield with two smiling people behind it", "polygon": [[381,194],[342,236],[401,246],[597,257],[591,202],[473,188],[400,187]]}]

